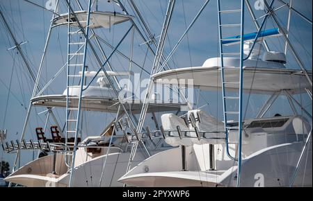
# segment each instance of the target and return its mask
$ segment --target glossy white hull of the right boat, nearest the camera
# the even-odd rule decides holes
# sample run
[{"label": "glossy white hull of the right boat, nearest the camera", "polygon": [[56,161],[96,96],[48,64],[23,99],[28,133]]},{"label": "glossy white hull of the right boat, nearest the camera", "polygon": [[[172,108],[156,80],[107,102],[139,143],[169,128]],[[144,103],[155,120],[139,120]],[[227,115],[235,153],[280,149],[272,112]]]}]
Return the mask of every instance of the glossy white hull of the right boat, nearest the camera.
[{"label": "glossy white hull of the right boat, nearest the camera", "polygon": [[[241,166],[241,186],[289,186],[302,148],[303,143],[284,143],[264,148],[246,157]],[[305,155],[307,160],[300,164],[293,186],[312,186],[312,142],[309,149]],[[194,163],[194,159],[197,158],[191,156],[193,149],[189,148],[186,161],[191,170],[179,171],[182,168],[182,159],[177,159],[179,157],[175,159],[173,154],[176,152],[179,155],[180,151],[181,148],[173,148],[150,157],[119,181],[131,186],[150,187],[236,186],[236,164],[226,171],[201,171],[201,161],[197,161],[199,169],[197,171],[192,165],[188,165]],[[154,164],[159,158],[172,163],[168,166]],[[147,167],[153,170],[147,171]]]}]

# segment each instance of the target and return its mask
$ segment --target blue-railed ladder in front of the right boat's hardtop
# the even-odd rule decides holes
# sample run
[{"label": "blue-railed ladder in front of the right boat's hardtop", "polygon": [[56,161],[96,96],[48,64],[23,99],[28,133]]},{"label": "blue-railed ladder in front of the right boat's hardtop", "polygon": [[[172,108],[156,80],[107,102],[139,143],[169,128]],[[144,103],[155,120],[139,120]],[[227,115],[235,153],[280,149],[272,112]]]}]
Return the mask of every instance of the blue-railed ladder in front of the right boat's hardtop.
[{"label": "blue-railed ladder in front of the right boat's hardtop", "polygon": [[[223,118],[224,118],[224,128],[225,128],[225,144],[226,144],[226,152],[228,157],[231,159],[234,159],[237,161],[238,168],[237,168],[237,181],[236,186],[239,186],[240,184],[240,173],[241,173],[241,133],[242,133],[242,96],[243,96],[243,32],[244,32],[244,0],[241,1],[234,1],[233,4],[239,4],[239,9],[234,10],[222,10],[221,9],[221,2],[228,3],[230,5],[230,1],[226,0],[217,0],[217,6],[218,6],[218,35],[219,35],[219,48],[220,48],[220,80],[221,80],[221,86],[222,86],[222,95],[223,95]],[[231,5],[234,6],[234,5]],[[236,19],[239,18],[238,14],[240,13],[240,22],[238,24],[224,24],[222,20],[225,15],[226,17],[229,17],[227,19]],[[231,16],[233,15],[233,16]],[[236,17],[234,17],[236,16]],[[224,19],[224,18],[223,18]],[[240,31],[240,37],[237,39],[230,39],[225,34],[223,34],[225,29],[232,28],[232,30],[237,29]],[[225,41],[229,40],[238,40],[240,43],[238,51],[227,51],[227,46],[225,46]],[[232,56],[232,58],[239,58],[240,64],[239,67],[225,67],[225,57]],[[235,76],[236,79],[230,79],[227,78],[227,73],[231,72],[239,74],[239,76]],[[230,92],[227,91],[227,85],[230,86],[238,86],[236,89],[238,89],[237,94],[238,96],[230,95]],[[238,105],[238,108],[230,110],[230,105]],[[238,121],[238,125],[230,124],[229,120]],[[232,156],[229,152],[229,132],[230,130],[236,130],[238,131],[238,156]],[[233,132],[232,132],[233,133]]]}]

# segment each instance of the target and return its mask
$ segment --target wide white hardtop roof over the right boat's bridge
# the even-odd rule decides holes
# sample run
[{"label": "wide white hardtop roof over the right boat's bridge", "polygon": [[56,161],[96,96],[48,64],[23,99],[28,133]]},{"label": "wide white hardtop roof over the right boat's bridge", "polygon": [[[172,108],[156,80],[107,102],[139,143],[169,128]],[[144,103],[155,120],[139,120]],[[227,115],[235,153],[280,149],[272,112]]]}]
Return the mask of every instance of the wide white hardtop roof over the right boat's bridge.
[{"label": "wide white hardtop roof over the right boat's bridge", "polygon": [[[224,78],[227,82],[239,80],[239,58],[223,58]],[[312,76],[312,71],[309,71]],[[154,74],[157,84],[188,85],[204,90],[221,88],[220,58],[210,58],[202,67],[187,67],[172,69]],[[180,80],[181,79],[181,80]],[[189,82],[188,82],[189,79]],[[238,90],[238,83],[227,83],[227,90]],[[264,60],[246,60],[243,63],[243,89],[256,94],[272,94],[283,89],[291,94],[298,94],[305,89],[312,90],[305,74],[298,69],[286,69],[280,62]]]}]

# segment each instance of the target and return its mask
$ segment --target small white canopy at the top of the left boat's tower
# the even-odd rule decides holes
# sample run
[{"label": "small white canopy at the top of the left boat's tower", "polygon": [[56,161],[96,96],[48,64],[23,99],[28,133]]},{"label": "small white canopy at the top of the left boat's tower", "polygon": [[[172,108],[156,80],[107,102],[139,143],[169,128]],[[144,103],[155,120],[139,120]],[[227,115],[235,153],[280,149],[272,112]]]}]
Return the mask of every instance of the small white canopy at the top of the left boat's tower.
[{"label": "small white canopy at the top of the left boat's tower", "polygon": [[[81,10],[81,11],[77,11],[74,13],[77,16],[77,19],[79,19],[81,26],[85,27],[86,21],[87,21],[87,11]],[[129,19],[132,19],[132,18],[133,16],[131,15],[124,15],[119,12],[92,11],[90,12],[89,28],[101,28],[101,27],[110,28],[112,25],[119,24],[124,21],[128,21]],[[71,15],[70,19],[72,20],[71,22],[72,26],[78,26],[74,15]],[[54,21],[54,26],[67,25],[68,14],[64,13],[54,18],[53,21]]]}]

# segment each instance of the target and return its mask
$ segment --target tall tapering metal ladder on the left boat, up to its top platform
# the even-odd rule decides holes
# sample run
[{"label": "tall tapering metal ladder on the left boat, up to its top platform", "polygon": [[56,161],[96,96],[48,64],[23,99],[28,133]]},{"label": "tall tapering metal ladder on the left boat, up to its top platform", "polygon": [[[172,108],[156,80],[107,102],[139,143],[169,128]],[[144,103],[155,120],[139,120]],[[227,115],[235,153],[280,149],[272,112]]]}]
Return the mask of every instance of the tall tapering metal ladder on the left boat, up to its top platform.
[{"label": "tall tapering metal ladder on the left boat, up to its top platform", "polygon": [[[74,3],[72,3],[74,4]],[[89,33],[91,0],[88,2],[86,21],[79,21],[67,0],[67,92],[66,92],[66,123],[65,123],[65,164],[70,171],[69,187],[72,186],[74,161],[79,135],[79,121],[81,113],[81,96],[85,80],[86,52]],[[83,33],[86,34],[83,35]],[[79,74],[81,71],[81,74]],[[79,81],[79,85],[77,85]],[[72,96],[73,89],[79,90],[79,96]],[[74,142],[68,139],[74,137]],[[72,148],[70,148],[72,146]],[[74,148],[73,148],[74,146]]]}]

